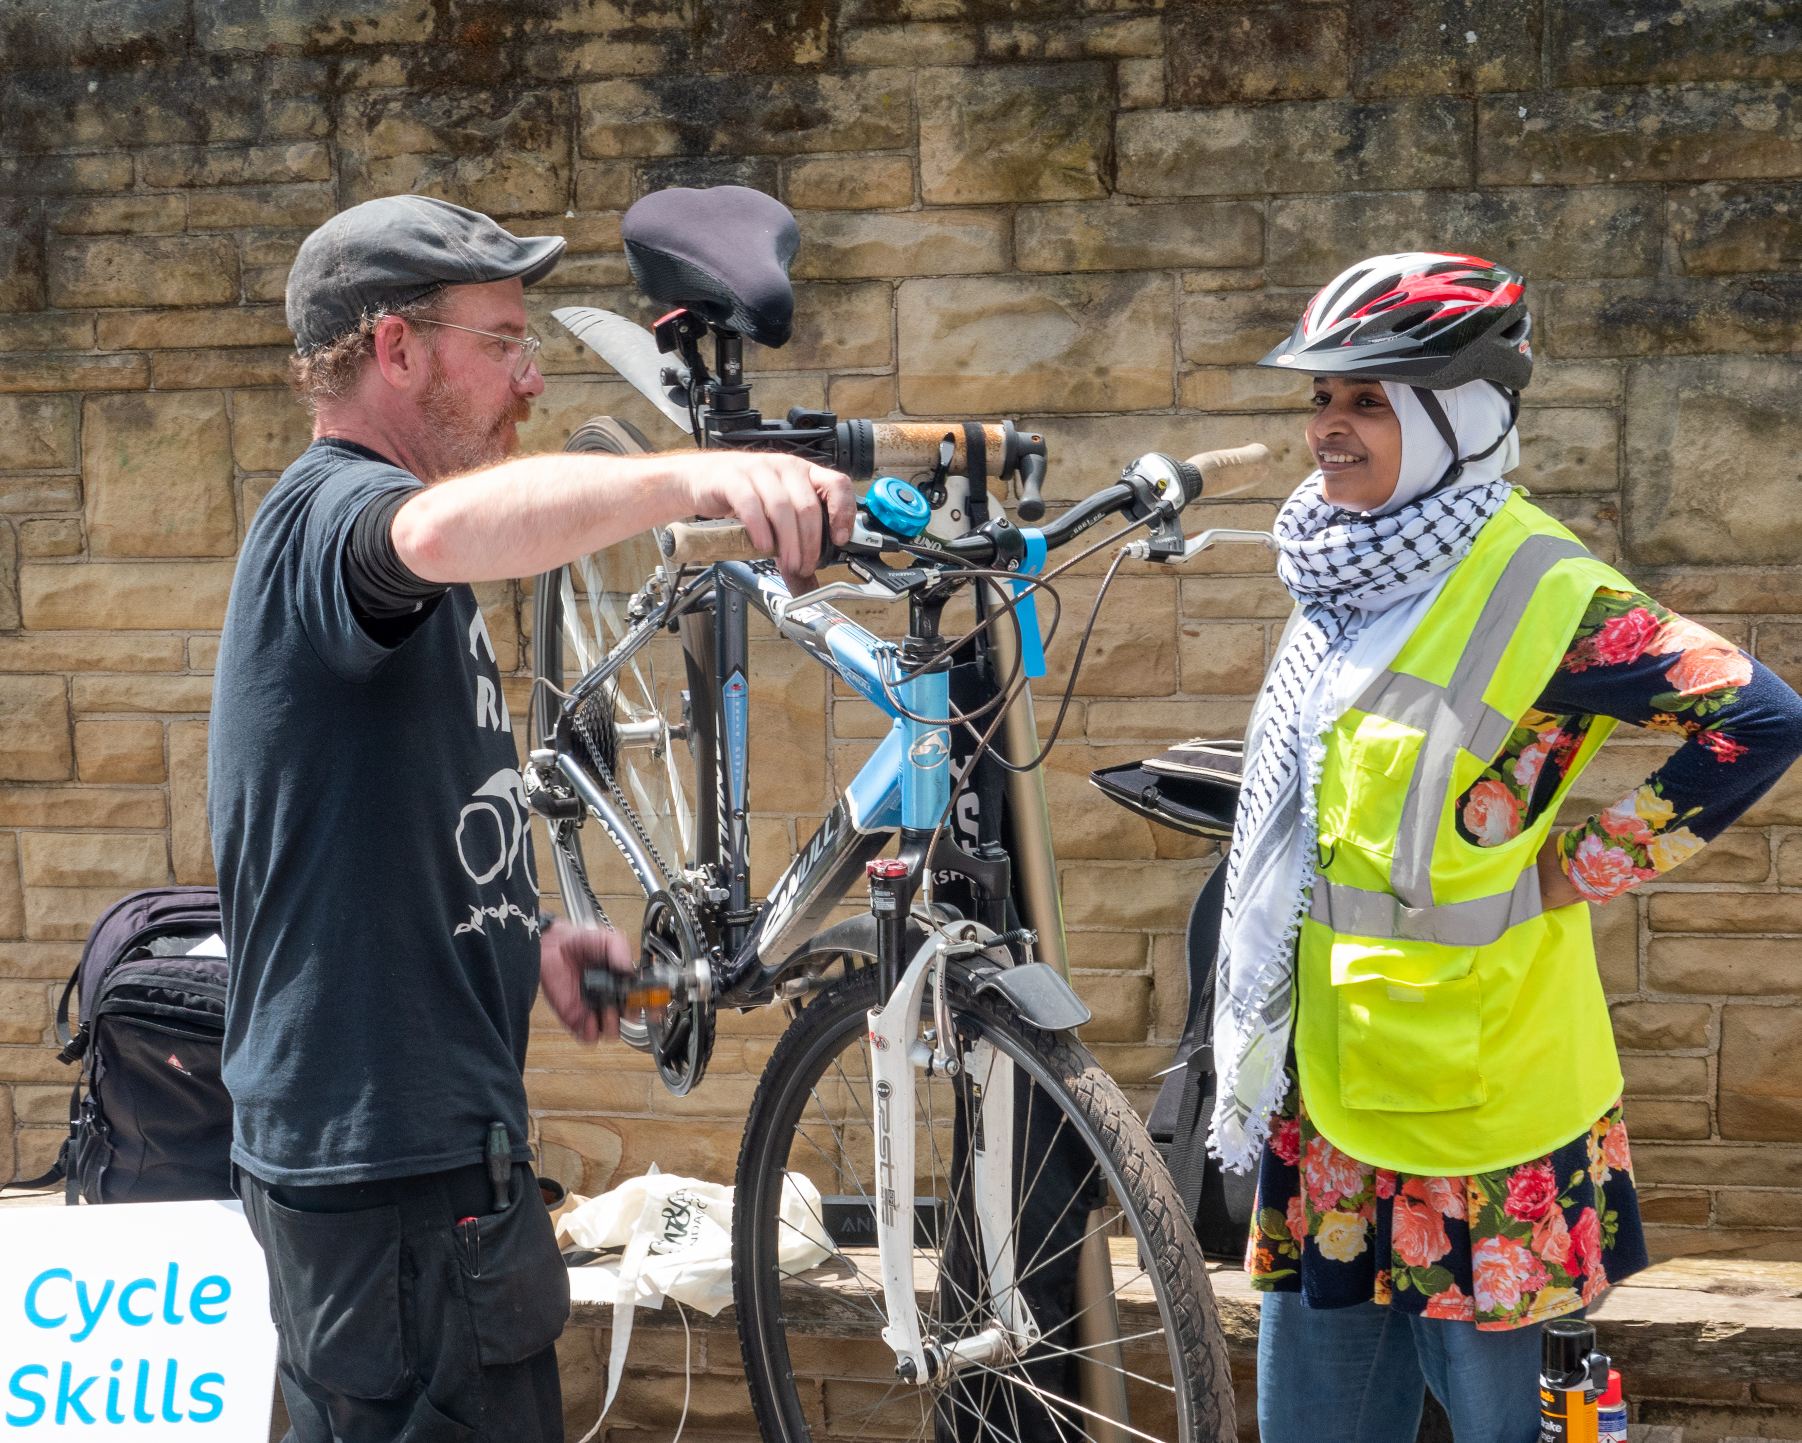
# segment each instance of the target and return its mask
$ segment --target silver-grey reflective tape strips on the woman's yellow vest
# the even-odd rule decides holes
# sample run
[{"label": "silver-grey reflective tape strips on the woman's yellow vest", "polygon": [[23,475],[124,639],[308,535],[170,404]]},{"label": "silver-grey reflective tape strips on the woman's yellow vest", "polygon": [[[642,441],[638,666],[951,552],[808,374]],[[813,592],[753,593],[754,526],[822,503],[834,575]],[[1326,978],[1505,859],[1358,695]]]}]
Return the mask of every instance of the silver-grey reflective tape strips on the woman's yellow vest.
[{"label": "silver-grey reflective tape strips on the woman's yellow vest", "polygon": [[1561,560],[1588,555],[1584,546],[1564,537],[1528,537],[1496,578],[1447,686],[1404,672],[1382,672],[1364,688],[1364,695],[1353,703],[1355,710],[1424,733],[1407,778],[1402,825],[1389,863],[1395,895],[1317,877],[1308,908],[1312,921],[1350,937],[1483,948],[1508,928],[1539,915],[1539,870],[1532,865],[1512,892],[1434,906],[1433,847],[1458,749],[1463,748],[1485,764],[1492,762],[1514,730],[1514,717],[1505,717],[1485,703],[1483,694],[1534,600],[1534,591]]}]

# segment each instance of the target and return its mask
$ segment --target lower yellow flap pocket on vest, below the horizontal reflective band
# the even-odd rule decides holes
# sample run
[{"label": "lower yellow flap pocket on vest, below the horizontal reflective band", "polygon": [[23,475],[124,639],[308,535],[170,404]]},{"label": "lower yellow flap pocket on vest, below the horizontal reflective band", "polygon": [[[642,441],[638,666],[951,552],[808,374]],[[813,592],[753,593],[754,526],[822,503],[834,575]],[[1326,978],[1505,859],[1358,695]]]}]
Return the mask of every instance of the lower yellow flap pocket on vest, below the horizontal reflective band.
[{"label": "lower yellow flap pocket on vest, below the horizontal reflective band", "polygon": [[1474,964],[1474,948],[1333,944],[1342,1106],[1454,1112],[1483,1103]]}]

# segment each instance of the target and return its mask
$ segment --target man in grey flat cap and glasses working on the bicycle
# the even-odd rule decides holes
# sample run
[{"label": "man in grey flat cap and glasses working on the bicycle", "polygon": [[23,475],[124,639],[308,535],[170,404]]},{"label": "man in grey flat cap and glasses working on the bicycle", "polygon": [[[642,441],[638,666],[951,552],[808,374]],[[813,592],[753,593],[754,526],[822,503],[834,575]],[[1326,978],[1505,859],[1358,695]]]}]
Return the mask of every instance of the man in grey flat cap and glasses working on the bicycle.
[{"label": "man in grey flat cap and glasses working on the bicycle", "polygon": [[[524,288],[562,240],[423,196],[357,205],[288,277],[314,443],[245,535],[209,811],[232,958],[232,1162],[297,1443],[560,1441],[568,1281],[530,1169],[528,1012],[613,1018],[541,926],[503,677],[470,582],[733,515],[786,571],[851,486],[784,456],[524,456]],[[490,1175],[488,1149],[512,1160]]]}]

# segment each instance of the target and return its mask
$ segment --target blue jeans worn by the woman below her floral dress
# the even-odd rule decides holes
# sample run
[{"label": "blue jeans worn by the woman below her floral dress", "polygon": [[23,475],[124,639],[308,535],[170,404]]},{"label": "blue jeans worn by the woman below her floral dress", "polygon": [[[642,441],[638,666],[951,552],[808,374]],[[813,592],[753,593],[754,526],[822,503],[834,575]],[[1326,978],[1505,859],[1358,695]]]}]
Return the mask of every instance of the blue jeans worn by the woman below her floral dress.
[{"label": "blue jeans worn by the woman below her floral dress", "polygon": [[1301,1293],[1263,1295],[1263,1443],[1415,1443],[1429,1387],[1458,1443],[1534,1443],[1539,1328],[1479,1333],[1375,1302],[1306,1308]]}]

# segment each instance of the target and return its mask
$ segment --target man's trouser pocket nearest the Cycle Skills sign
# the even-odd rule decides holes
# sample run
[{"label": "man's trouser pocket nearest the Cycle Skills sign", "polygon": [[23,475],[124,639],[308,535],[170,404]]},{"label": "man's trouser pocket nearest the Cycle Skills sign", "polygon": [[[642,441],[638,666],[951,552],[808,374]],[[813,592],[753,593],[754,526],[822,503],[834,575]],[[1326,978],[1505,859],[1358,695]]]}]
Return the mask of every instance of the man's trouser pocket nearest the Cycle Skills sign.
[{"label": "man's trouser pocket nearest the Cycle Skills sign", "polygon": [[400,1339],[400,1209],[297,1212],[267,1194],[258,1203],[288,1362],[332,1393],[402,1396],[413,1375]]}]

